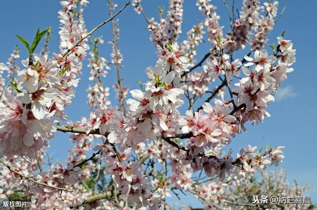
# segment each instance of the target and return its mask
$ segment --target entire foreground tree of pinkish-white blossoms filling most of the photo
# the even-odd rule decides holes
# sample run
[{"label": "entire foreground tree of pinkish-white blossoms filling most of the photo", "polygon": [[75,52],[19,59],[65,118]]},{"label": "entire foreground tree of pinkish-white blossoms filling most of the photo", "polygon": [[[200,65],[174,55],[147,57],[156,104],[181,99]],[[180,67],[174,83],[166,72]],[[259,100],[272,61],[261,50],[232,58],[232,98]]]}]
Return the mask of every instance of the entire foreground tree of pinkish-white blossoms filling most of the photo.
[{"label": "entire foreground tree of pinkish-white blossoms filling most of the photo", "polygon": [[[235,157],[232,150],[224,151],[232,138],[247,130],[248,122],[258,124],[269,117],[268,104],[293,71],[296,50],[284,33],[277,38],[276,48],[272,46],[272,55],[264,49],[278,3],[260,6],[259,0],[243,0],[239,18],[230,17],[231,29],[224,35],[210,1],[197,0],[205,20],[190,29],[185,41],[177,42],[183,0],[169,0],[166,18],[159,10],[159,22],[146,17],[141,0],[133,0],[136,12],[143,12],[149,23],[158,60],[145,71],[148,81],[130,91],[120,75],[124,66],[118,21],[111,20],[108,62],[99,54],[101,37],[89,38],[93,47],[88,53],[85,37],[91,34],[83,19],[88,1],[61,1],[60,52],[53,53],[53,58],[33,53],[22,61],[20,71],[16,48],[7,66],[0,63],[0,156],[5,159],[0,165],[0,198],[22,191],[31,199],[31,209],[43,210],[157,210],[170,208],[166,197],[171,193],[177,196],[175,191],[187,191],[203,201],[206,209],[227,208],[228,199],[238,199],[230,197],[229,190],[252,185],[248,181],[257,171],[264,174],[267,167],[279,166],[285,158],[283,146],[265,146],[262,152],[248,145]],[[116,7],[108,0],[111,16]],[[210,51],[195,64],[204,36]],[[252,51],[235,59],[232,52],[247,43]],[[90,114],[62,126],[87,54]],[[113,84],[117,106],[111,106],[109,87],[103,83],[111,65],[117,71],[118,82]],[[5,71],[11,81],[4,89]],[[218,79],[222,83],[211,88]],[[129,93],[132,98],[125,100]],[[194,111],[196,99],[207,93],[211,96]],[[189,108],[184,113],[181,107],[186,98]],[[57,131],[72,133],[72,147],[64,162],[52,163],[45,155]]]}]

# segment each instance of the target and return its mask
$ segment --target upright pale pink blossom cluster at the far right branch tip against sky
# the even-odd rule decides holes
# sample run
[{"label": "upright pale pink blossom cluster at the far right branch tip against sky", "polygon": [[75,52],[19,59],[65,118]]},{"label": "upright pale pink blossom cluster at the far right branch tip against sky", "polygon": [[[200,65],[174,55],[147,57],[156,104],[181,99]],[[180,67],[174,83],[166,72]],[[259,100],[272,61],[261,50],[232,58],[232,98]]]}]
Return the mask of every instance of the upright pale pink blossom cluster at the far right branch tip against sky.
[{"label": "upright pale pink blossom cluster at the far right branch tip against sky", "polygon": [[[295,62],[296,50],[293,44],[283,37],[278,37],[278,54],[268,56],[267,51],[256,50],[255,58],[245,56],[249,61],[242,68],[247,76],[240,80],[238,87],[234,89],[238,93],[237,102],[246,105],[246,111],[241,114],[241,128],[246,121],[260,123],[269,114],[265,111],[267,104],[274,101],[271,94],[276,92],[281,82],[287,78],[287,74],[293,71],[290,66]],[[252,71],[247,67],[253,66]]]}]

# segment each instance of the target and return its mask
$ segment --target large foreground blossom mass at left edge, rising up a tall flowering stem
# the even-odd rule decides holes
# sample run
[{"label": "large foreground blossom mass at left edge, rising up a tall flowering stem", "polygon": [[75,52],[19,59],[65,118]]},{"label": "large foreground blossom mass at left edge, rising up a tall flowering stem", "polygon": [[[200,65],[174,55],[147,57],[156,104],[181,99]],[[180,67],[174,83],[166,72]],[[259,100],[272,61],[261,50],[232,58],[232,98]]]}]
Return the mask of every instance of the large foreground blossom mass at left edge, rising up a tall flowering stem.
[{"label": "large foreground blossom mass at left edge, rising up a tall flowering stem", "polygon": [[[72,0],[61,4],[63,9],[59,11],[59,18],[63,27],[59,34],[64,52],[81,39],[86,29],[82,9],[75,16],[76,4]],[[22,61],[25,69],[11,81],[17,94],[5,91],[0,103],[1,155],[34,158],[34,152],[47,145],[47,140],[53,137],[53,117],[57,120],[66,117],[64,107],[74,97],[71,86],[77,86],[81,59],[88,48],[83,44],[72,49],[66,57],[53,54],[51,59],[48,55],[34,54],[34,59]],[[17,56],[17,53],[13,54]]]}]

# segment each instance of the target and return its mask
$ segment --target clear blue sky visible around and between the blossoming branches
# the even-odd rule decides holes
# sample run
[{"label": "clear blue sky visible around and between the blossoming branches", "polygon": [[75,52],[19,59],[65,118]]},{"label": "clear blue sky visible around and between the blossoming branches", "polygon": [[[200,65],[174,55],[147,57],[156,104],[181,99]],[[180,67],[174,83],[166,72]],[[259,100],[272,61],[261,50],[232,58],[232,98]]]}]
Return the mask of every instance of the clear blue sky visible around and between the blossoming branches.
[{"label": "clear blue sky visible around and between the blossoming branches", "polygon": [[[125,1],[116,1],[119,7]],[[186,0],[184,4],[184,18],[182,31],[179,41],[186,39],[186,32],[198,21],[204,18],[195,6],[194,0]],[[228,0],[231,2],[231,0]],[[240,2],[240,1],[239,1]],[[32,41],[36,30],[40,27],[44,30],[48,25],[52,26],[53,38],[49,45],[50,52],[58,52],[58,14],[61,8],[59,0],[30,0],[30,1],[3,1],[0,7],[0,62],[6,62],[10,53],[16,44],[21,47],[21,58],[27,57],[27,50],[16,38],[16,34]],[[145,11],[149,17],[154,16],[158,19],[158,6],[165,5],[167,0],[142,1]],[[217,13],[221,16],[220,25],[225,26],[224,32],[229,30],[229,19],[222,0],[213,0],[217,8]],[[240,9],[241,2],[237,7]],[[296,63],[292,66],[294,72],[289,74],[289,78],[283,82],[280,87],[280,93],[276,96],[276,101],[269,104],[267,111],[271,114],[260,125],[248,125],[248,132],[243,133],[233,139],[230,148],[234,153],[238,152],[240,147],[247,144],[258,146],[259,148],[269,142],[270,146],[285,146],[285,160],[281,165],[288,171],[288,179],[293,182],[296,179],[301,185],[317,185],[317,90],[316,90],[316,20],[317,20],[317,1],[298,1],[298,0],[280,0],[279,11],[286,5],[286,10],[280,20],[276,23],[273,31],[268,36],[269,43],[276,42],[276,37],[280,36],[285,30],[285,38],[292,40],[296,53]],[[108,11],[106,1],[91,0],[91,3],[85,8],[84,18],[86,27],[90,31],[96,25],[106,20]],[[122,77],[123,84],[129,85],[130,89],[138,88],[136,80],[142,82],[147,80],[145,69],[148,66],[155,65],[157,56],[155,46],[149,40],[149,33],[145,29],[147,26],[144,18],[137,15],[132,6],[129,6],[119,16],[120,39],[118,45],[124,56]],[[100,55],[109,59],[111,45],[107,44],[111,40],[111,27],[109,24],[99,29],[93,37],[103,36],[105,44],[100,47]],[[41,49],[43,44],[38,46]],[[197,60],[200,60],[211,47],[206,42],[198,47]],[[242,58],[243,51],[234,54],[234,58]],[[76,88],[76,97],[72,105],[67,107],[66,113],[69,120],[80,120],[81,116],[89,116],[89,109],[86,104],[86,88],[89,84],[89,68],[87,61],[83,65],[83,76]],[[111,87],[113,81],[116,81],[116,72],[114,69],[108,71],[104,84]],[[110,99],[113,105],[114,92],[110,92]],[[196,106],[200,106],[199,102]],[[78,114],[80,113],[80,114]],[[67,156],[67,149],[71,148],[68,140],[68,134],[56,133],[52,141],[50,152],[54,152],[55,159],[63,160]],[[62,147],[61,147],[62,145]],[[67,149],[66,149],[67,148]],[[273,168],[272,168],[273,169]],[[312,200],[317,202],[317,186],[306,192]],[[172,199],[173,201],[174,198]],[[188,203],[195,203],[190,199]],[[195,204],[195,206],[199,206]]]}]

